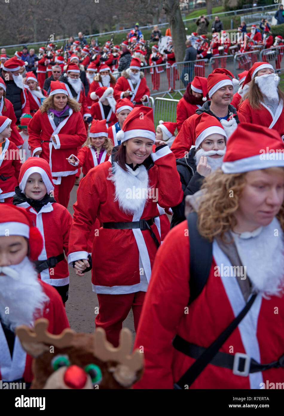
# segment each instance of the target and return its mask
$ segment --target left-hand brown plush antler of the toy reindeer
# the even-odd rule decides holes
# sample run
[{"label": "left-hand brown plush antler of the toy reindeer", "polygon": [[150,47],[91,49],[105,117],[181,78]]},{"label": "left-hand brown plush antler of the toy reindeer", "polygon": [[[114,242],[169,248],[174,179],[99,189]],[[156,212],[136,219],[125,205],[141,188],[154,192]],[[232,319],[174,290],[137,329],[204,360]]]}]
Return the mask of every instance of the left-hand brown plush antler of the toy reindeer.
[{"label": "left-hand brown plush antler of the toy reindeer", "polygon": [[26,325],[17,327],[16,333],[22,344],[44,343],[54,345],[58,348],[68,347],[74,337],[75,332],[66,328],[59,335],[50,334],[47,331],[48,320],[40,318],[35,321],[35,328],[29,328]]}]

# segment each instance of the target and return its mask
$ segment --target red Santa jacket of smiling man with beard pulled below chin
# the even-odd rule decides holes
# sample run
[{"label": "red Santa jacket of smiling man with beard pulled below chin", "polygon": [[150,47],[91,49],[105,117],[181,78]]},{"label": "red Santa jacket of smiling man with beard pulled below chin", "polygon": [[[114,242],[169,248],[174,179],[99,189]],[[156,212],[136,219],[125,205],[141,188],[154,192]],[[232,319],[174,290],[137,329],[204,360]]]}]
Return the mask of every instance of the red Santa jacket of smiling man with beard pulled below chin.
[{"label": "red Santa jacket of smiling man with beard pulled below chin", "polygon": [[[190,116],[187,120],[185,120],[180,131],[175,137],[170,150],[176,158],[184,157],[185,154],[189,152],[190,147],[194,146],[195,119],[197,119],[198,115],[199,114],[195,113],[193,116]],[[234,114],[234,116],[236,115],[238,116],[240,123],[246,121],[244,116],[239,111]],[[229,116],[227,119],[229,119]]]}]

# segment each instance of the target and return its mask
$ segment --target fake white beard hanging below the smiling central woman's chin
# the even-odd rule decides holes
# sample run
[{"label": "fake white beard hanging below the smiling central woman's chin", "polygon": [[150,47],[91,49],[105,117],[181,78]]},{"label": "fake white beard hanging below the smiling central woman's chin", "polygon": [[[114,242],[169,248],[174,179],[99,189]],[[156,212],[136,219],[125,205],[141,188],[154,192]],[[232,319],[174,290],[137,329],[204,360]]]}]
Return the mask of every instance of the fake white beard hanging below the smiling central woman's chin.
[{"label": "fake white beard hanging below the smiling central woman's chin", "polygon": [[[143,192],[143,189],[148,189],[149,178],[148,172],[144,165],[138,166],[133,171],[127,166],[128,171],[124,171],[116,162],[112,168],[112,174],[108,177],[114,183],[115,198],[118,201],[119,208],[126,214],[134,214],[137,210],[143,210],[143,206],[147,201],[148,192]],[[141,198],[127,198],[129,190],[141,190]],[[143,198],[144,196],[144,198]]]}]

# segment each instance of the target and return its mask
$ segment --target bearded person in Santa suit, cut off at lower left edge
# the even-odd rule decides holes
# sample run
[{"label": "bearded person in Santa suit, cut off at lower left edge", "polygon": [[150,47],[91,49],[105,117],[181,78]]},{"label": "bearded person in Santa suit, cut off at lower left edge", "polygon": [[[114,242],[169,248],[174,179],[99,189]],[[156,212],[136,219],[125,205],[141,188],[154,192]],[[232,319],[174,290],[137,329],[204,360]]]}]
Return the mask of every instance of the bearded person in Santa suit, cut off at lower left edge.
[{"label": "bearded person in Santa suit, cut off at lower left edge", "polygon": [[22,349],[16,327],[31,327],[41,317],[48,319],[47,330],[52,334],[61,334],[69,327],[61,297],[37,278],[32,261],[42,247],[40,231],[25,210],[1,204],[0,378],[3,382],[25,383],[26,389],[33,377],[32,357]]}]

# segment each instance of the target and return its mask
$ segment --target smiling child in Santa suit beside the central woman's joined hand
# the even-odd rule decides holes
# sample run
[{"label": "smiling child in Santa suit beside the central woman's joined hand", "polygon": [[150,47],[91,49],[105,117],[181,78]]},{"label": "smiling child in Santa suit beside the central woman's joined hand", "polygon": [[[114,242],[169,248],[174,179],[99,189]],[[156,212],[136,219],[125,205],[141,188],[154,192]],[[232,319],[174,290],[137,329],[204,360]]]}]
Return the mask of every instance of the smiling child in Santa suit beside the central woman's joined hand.
[{"label": "smiling child in Santa suit beside the central woman's joined hand", "polygon": [[68,255],[72,216],[67,208],[52,197],[54,185],[49,164],[42,158],[30,157],[22,168],[13,204],[25,208],[43,238],[43,249],[36,259],[41,280],[54,286],[62,302],[68,299],[69,272],[64,252]]}]

